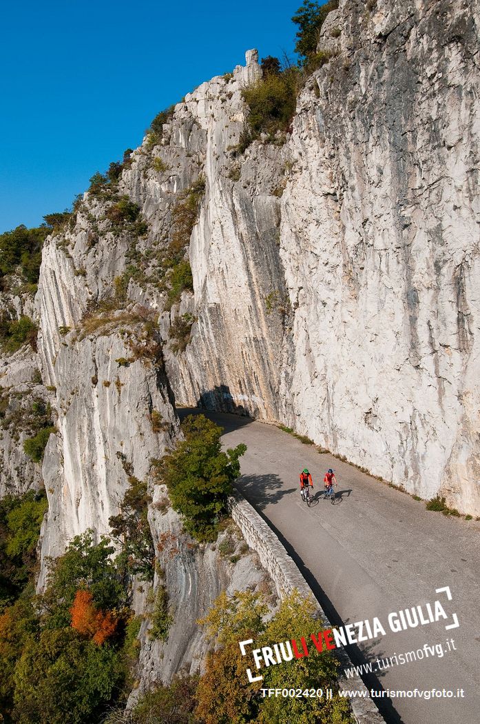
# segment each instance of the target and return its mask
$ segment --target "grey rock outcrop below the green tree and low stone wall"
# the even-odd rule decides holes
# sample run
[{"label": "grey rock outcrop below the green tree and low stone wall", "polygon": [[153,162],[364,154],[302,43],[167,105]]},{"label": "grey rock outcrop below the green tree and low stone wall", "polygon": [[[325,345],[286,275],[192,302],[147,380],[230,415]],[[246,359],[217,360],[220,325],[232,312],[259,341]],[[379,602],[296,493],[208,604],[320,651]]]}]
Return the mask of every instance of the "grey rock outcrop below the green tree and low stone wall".
[{"label": "grey rock outcrop below the green tree and low stone wall", "polygon": [[142,691],[154,683],[169,683],[180,670],[192,674],[205,670],[209,642],[197,620],[207,615],[222,591],[233,595],[251,589],[266,595],[272,607],[277,602],[275,584],[233,523],[214,544],[198,544],[183,531],[179,515],[168,508],[165,487],[155,486],[153,494],[149,519],[158,566],[153,589],[137,587],[135,606],[143,613],[152,610],[159,586],[166,586],[171,623],[168,638],[162,641],[150,635],[152,615],[144,618],[140,629],[140,681],[129,706]]}]

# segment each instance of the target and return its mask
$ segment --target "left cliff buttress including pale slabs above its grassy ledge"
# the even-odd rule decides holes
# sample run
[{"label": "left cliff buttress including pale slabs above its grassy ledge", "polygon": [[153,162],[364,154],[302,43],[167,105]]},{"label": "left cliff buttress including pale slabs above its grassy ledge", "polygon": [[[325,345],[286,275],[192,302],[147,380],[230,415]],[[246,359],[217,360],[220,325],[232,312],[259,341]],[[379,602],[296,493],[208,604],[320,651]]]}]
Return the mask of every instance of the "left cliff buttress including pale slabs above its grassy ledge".
[{"label": "left cliff buttress including pale slabs above its grassy ledge", "polygon": [[[64,552],[77,534],[93,529],[108,534],[108,519],[119,512],[128,475],[145,480],[150,461],[159,458],[178,433],[168,382],[161,364],[141,353],[132,356],[129,333],[142,336],[147,310],[130,305],[111,310],[85,327],[90,299],[101,298],[125,266],[124,247],[106,237],[87,259],[87,274],[75,269],[87,256],[86,234],[77,223],[68,256],[49,237],[43,253],[37,305],[39,357],[43,379],[55,390],[58,432],[43,458],[48,518],[42,531],[42,561]],[[109,255],[110,252],[110,255]],[[63,328],[63,329],[62,329]],[[152,413],[162,421],[153,429]],[[125,469],[127,463],[128,471]],[[38,581],[45,581],[46,568]]]}]

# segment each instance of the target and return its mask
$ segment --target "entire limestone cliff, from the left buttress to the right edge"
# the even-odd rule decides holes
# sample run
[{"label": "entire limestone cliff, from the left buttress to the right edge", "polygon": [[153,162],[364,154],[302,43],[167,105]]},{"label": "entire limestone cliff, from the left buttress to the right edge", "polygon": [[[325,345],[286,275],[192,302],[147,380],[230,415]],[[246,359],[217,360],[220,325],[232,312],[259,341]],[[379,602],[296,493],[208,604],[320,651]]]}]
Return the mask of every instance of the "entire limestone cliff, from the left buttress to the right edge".
[{"label": "entire limestone cliff, from the left buttress to the right edge", "polygon": [[[128,475],[148,479],[179,434],[175,401],[287,424],[480,515],[479,22],[476,0],[340,0],[287,134],[244,143],[249,51],[48,237],[38,363],[8,372],[13,389],[39,367],[56,424],[43,560],[108,531]],[[9,480],[35,484],[6,441]],[[178,534],[150,520],[155,540]],[[218,565],[186,545],[178,601]],[[184,643],[165,678],[192,662]]]}]

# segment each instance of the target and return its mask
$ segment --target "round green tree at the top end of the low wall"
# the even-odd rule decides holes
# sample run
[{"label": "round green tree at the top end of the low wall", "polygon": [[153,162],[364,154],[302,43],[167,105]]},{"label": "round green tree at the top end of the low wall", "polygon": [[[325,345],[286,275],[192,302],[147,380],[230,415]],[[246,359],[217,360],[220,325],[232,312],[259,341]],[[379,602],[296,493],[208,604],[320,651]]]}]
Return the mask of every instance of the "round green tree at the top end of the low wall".
[{"label": "round green tree at the top end of the low wall", "polygon": [[223,452],[223,430],[204,415],[189,415],[181,430],[185,439],[157,463],[160,479],[187,531],[198,540],[213,540],[247,447],[237,445]]}]

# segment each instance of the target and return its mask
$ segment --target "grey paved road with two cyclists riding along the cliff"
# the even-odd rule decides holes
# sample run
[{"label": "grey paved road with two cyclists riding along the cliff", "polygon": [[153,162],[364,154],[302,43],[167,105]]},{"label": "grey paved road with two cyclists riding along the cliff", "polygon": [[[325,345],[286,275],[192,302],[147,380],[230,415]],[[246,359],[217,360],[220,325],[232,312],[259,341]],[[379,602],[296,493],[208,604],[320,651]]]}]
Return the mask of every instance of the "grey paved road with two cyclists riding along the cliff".
[{"label": "grey paved road with two cyclists riding along the cliff", "polygon": [[[377,658],[381,664],[385,657],[424,644],[442,644],[447,651],[364,677],[379,691],[465,693],[464,699],[379,699],[387,722],[479,724],[480,523],[427,511],[424,503],[331,455],[320,455],[274,426],[220,413],[208,416],[225,429],[225,445],[247,444],[239,488],[278,532],[330,620],[345,625],[377,616],[385,627],[386,636],[347,647],[357,664],[372,662],[375,668]],[[314,479],[312,508],[301,502],[297,483],[306,466]],[[335,505],[319,496],[329,467],[339,483],[341,500]],[[442,586],[450,586],[451,602],[435,593]],[[458,614],[458,628],[445,631],[441,621],[399,633],[388,628],[389,613],[416,605],[425,610],[427,602],[440,598],[448,615]]]}]

